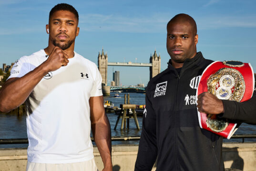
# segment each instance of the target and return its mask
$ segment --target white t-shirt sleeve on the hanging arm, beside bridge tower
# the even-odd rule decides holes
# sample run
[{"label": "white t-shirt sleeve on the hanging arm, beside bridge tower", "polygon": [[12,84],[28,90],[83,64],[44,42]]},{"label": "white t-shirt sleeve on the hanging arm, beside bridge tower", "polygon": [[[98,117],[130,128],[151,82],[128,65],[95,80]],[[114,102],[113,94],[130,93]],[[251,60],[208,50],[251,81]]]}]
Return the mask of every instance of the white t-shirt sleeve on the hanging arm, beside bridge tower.
[{"label": "white t-shirt sleeve on the hanging arm, beside bridge tower", "polygon": [[95,65],[95,72],[96,72],[96,76],[95,76],[95,79],[93,82],[91,97],[102,95],[102,76],[101,76],[101,73],[96,65]]}]

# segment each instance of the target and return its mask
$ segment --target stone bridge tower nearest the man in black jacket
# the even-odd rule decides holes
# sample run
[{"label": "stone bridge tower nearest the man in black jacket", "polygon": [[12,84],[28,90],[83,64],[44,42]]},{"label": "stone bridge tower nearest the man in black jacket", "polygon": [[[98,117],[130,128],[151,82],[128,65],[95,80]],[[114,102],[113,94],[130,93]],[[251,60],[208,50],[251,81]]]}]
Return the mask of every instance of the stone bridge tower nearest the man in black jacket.
[{"label": "stone bridge tower nearest the man in black jacket", "polygon": [[150,79],[160,73],[161,69],[161,57],[160,54],[157,56],[156,51],[154,50],[154,55],[150,56],[149,62],[152,63],[152,66],[149,67]]}]

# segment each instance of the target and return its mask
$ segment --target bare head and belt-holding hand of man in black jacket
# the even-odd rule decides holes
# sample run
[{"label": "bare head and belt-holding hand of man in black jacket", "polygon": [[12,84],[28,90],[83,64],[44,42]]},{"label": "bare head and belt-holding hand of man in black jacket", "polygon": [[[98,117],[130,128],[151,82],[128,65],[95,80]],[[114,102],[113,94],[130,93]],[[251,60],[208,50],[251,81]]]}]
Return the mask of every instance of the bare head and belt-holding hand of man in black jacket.
[{"label": "bare head and belt-holding hand of man in black jacket", "polygon": [[[186,59],[195,57],[197,42],[196,26],[190,16],[180,14],[168,23],[166,48],[174,68],[181,68]],[[205,114],[225,112],[222,101],[215,95],[204,92],[197,98],[199,112]]]}]

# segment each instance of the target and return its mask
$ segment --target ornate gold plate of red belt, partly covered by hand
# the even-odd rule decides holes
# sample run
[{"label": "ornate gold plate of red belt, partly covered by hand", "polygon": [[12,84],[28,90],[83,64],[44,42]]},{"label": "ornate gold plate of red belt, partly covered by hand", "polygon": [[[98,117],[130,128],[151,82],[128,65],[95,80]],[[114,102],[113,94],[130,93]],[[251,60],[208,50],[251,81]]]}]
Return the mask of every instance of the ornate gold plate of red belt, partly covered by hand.
[{"label": "ornate gold plate of red belt, partly covered by hand", "polygon": [[[219,69],[207,79],[207,87],[207,91],[217,98],[236,102],[242,100],[246,90],[243,75],[234,68]],[[217,133],[224,131],[228,126],[226,120],[217,120],[216,115],[212,114],[207,115],[206,124]]]}]

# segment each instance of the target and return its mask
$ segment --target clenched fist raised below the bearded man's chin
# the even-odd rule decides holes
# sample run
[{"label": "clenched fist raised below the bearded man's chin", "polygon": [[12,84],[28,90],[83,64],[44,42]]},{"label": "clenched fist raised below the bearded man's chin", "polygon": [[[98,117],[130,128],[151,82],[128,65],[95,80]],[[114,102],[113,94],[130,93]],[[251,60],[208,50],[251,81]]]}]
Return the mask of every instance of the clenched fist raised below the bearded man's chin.
[{"label": "clenched fist raised below the bearded man's chin", "polygon": [[46,71],[51,72],[59,69],[61,66],[67,66],[69,56],[60,47],[54,47],[48,59],[42,63],[45,65]]}]

